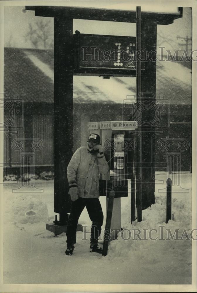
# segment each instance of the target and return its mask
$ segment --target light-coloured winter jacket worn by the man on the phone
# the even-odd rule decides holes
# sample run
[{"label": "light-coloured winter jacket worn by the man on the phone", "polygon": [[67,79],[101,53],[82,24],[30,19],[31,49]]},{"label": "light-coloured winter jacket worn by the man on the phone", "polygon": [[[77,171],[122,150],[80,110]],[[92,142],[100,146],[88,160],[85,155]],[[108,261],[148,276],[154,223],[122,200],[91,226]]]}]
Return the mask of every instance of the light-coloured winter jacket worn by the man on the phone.
[{"label": "light-coloured winter jacket worn by the man on the phone", "polygon": [[77,183],[79,197],[96,198],[99,197],[99,173],[106,174],[108,169],[105,156],[97,158],[87,147],[80,147],[68,164],[68,182]]}]

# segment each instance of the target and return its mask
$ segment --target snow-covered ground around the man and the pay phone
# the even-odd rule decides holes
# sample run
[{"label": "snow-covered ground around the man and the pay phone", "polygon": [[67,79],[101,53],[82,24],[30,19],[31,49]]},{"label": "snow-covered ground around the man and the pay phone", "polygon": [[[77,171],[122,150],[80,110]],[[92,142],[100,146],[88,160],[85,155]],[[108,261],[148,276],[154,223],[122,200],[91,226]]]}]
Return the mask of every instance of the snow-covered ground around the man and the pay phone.
[{"label": "snow-covered ground around the man and the pay phone", "polygon": [[[55,219],[53,181],[36,180],[35,186],[43,193],[13,193],[13,185],[4,184],[4,284],[191,284],[191,239],[151,240],[163,229],[191,232],[191,174],[181,174],[181,187],[172,188],[172,220],[166,219],[166,173],[157,172],[156,203],[142,211],[142,222],[130,224],[130,198],[121,199],[122,235],[109,244],[108,255],[103,257],[89,252],[88,240],[77,232],[73,256],[66,256],[66,235],[57,237],[46,230],[46,222]],[[15,188],[15,186],[14,186]],[[188,189],[188,190],[186,190]],[[176,191],[179,191],[178,193]],[[188,192],[186,192],[188,191]],[[106,198],[100,197],[106,219]],[[91,222],[86,209],[79,223]],[[159,227],[159,226],[164,226]],[[128,229],[131,231],[129,234]],[[140,229],[140,240],[134,233]],[[145,230],[147,229],[147,230]],[[156,231],[158,231],[156,235]],[[123,234],[124,233],[124,234]],[[137,234],[137,233],[136,233]],[[103,234],[101,234],[102,237]],[[124,238],[129,238],[124,240]],[[196,233],[193,234],[196,237]]]}]

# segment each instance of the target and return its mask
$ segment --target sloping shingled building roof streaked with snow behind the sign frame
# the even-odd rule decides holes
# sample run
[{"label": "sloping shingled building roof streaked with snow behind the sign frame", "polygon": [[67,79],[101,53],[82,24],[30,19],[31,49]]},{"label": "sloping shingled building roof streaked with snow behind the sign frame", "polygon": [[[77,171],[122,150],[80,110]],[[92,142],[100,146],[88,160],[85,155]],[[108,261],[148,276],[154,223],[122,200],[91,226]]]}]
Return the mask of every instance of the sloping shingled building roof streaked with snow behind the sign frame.
[{"label": "sloping shingled building roof streaked with snow behind the sign frame", "polygon": [[[191,105],[191,81],[191,69],[184,62],[157,61],[156,98]],[[5,48],[4,92],[28,103],[53,103],[53,51]],[[74,76],[74,103],[122,104],[135,95],[136,78]]]}]

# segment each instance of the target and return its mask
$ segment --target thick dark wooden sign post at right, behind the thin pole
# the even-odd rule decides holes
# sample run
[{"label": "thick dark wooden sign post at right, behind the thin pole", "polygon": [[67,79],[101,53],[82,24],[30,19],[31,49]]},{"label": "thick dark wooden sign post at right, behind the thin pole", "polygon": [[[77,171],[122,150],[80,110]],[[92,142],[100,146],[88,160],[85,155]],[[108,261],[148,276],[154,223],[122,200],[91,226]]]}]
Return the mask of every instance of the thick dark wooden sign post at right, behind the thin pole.
[{"label": "thick dark wooden sign post at right, behind the thin pole", "polygon": [[[141,20],[141,52],[146,62],[142,62],[141,74],[141,162],[142,162],[142,209],[155,203],[155,127],[157,119],[156,107],[156,49],[157,19],[142,17]],[[147,57],[146,57],[147,52]],[[151,105],[150,107],[148,105]]]}]

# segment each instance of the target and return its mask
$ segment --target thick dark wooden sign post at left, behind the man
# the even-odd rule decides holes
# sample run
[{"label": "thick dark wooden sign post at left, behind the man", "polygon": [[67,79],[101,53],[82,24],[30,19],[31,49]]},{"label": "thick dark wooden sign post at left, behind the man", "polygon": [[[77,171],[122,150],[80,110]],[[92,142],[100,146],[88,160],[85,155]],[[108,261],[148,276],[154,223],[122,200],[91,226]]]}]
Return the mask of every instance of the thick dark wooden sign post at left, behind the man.
[{"label": "thick dark wooden sign post at left, behind the man", "polygon": [[67,166],[73,149],[73,19],[54,17],[54,211],[66,224],[70,201]]}]

